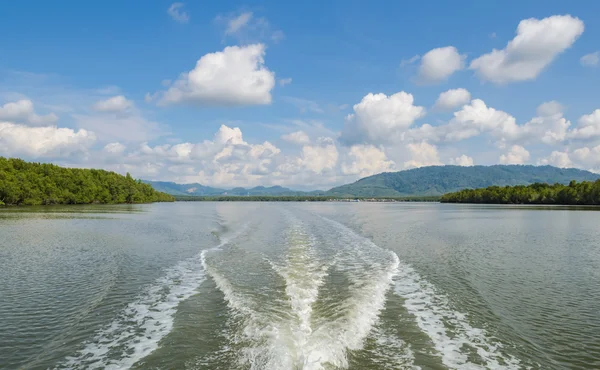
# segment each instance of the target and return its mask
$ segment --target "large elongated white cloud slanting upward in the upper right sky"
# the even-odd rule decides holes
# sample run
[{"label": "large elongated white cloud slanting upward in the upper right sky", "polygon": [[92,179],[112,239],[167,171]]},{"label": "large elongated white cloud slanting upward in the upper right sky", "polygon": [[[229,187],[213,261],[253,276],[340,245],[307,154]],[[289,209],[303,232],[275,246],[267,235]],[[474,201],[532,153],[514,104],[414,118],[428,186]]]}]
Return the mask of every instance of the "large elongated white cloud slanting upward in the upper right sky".
[{"label": "large elongated white cloud slanting upward in the upper right sky", "polygon": [[570,15],[525,19],[506,48],[473,60],[470,69],[496,84],[535,79],[583,33],[583,22]]}]

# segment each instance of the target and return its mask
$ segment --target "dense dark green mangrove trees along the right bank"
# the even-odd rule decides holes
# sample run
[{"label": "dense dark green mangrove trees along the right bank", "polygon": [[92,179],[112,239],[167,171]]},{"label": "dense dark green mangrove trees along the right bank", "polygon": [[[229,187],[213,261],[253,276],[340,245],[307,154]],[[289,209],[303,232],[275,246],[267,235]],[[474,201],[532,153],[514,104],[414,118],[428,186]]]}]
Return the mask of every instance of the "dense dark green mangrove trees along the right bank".
[{"label": "dense dark green mangrove trees along the right bank", "polygon": [[600,205],[600,180],[529,186],[490,186],[445,194],[443,203]]}]

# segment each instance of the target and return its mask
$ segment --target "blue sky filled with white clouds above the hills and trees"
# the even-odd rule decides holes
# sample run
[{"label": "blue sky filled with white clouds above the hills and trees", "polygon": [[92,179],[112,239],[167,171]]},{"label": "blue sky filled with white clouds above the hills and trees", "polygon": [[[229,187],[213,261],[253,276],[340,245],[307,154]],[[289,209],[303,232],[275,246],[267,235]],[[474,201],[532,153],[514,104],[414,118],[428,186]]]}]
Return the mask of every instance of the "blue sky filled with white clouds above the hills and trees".
[{"label": "blue sky filled with white clouds above the hills and trees", "polygon": [[0,156],[328,189],[600,173],[598,1],[0,2]]}]

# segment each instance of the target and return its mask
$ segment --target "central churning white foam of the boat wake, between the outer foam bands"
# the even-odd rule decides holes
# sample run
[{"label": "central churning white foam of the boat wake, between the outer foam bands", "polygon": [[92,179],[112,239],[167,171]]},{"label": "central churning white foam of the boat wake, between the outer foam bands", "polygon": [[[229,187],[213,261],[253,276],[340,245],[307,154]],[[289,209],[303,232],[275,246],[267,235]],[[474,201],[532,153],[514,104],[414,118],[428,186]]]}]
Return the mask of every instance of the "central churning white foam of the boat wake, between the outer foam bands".
[{"label": "central churning white foam of the boat wake, between the outer foam bands", "polygon": [[[319,234],[326,240],[323,242],[320,238],[320,242],[326,244],[322,245],[313,234],[315,228],[311,227],[309,233],[308,225],[294,218],[290,222],[287,257],[279,263],[269,261],[285,282],[287,309],[285,304],[280,308],[287,310],[285,312],[274,314],[272,310],[266,310],[251,295],[236,289],[204,258],[206,272],[234,311],[232,315],[242,322],[242,328],[230,334],[230,344],[240,348],[239,365],[250,369],[347,368],[348,352],[361,350],[378,322],[386,293],[397,273],[398,257],[377,248],[375,254],[378,257],[371,258],[368,251],[361,250],[365,246],[363,240],[356,234],[348,237],[347,229],[338,230],[335,236]],[[330,249],[329,252],[339,249],[340,252],[335,253],[335,258],[323,260],[317,251],[319,248]],[[373,252],[371,245],[367,249]],[[315,317],[315,304],[321,299],[319,294],[325,288],[325,279],[331,270],[345,276],[348,294],[331,303],[334,306],[327,316]],[[336,293],[331,291],[330,294]],[[381,340],[392,343],[389,338],[382,337]],[[394,344],[404,346],[401,340]],[[402,360],[395,359],[402,364],[412,363],[412,358],[406,358],[412,354],[405,349],[397,350],[404,355]],[[394,360],[390,351],[386,356],[388,360]]]}]

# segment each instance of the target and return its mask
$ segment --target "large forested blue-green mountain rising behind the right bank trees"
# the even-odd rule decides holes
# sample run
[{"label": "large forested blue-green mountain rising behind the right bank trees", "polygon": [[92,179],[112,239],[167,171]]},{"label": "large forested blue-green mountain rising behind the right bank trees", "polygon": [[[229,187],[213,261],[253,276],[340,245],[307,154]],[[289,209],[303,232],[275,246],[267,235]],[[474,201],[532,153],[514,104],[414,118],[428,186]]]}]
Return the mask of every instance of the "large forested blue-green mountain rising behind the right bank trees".
[{"label": "large forested blue-green mountain rising behind the right bank trees", "polygon": [[600,175],[589,171],[552,166],[431,166],[380,173],[338,186],[326,194],[369,197],[442,195],[492,185],[568,184],[571,180],[592,181],[598,178]]}]

